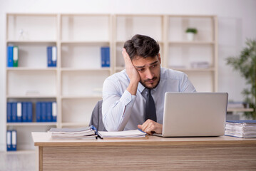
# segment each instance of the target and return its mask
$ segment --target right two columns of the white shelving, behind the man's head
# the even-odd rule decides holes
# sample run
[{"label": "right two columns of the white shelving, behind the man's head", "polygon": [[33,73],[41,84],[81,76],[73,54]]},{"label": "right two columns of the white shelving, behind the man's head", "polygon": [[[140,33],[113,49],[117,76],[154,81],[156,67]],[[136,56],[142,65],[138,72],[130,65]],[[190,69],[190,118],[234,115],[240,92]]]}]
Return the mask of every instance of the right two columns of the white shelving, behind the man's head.
[{"label": "right two columns of the white shelving, behind the man's head", "polygon": [[[198,91],[217,91],[217,16],[116,14],[113,24],[115,72],[125,68],[123,43],[139,33],[158,41],[162,66],[188,74]],[[188,27],[198,29],[195,41],[185,37]],[[192,68],[191,63],[201,61],[208,62],[209,67]]]}]

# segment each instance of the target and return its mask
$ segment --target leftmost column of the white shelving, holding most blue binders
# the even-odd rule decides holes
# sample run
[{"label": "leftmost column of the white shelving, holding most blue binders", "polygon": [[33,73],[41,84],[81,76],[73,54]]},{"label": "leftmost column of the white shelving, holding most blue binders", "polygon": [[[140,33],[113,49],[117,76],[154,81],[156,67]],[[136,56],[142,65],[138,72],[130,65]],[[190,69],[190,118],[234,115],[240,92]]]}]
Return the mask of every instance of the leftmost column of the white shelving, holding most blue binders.
[{"label": "leftmost column of the white shelving, holding most blue binders", "polygon": [[17,131],[18,151],[34,149],[31,131],[46,131],[57,125],[35,122],[35,103],[58,97],[58,69],[47,68],[46,58],[46,47],[57,44],[57,20],[55,14],[6,14],[6,48],[19,46],[19,67],[6,67],[6,103],[33,103],[32,123],[6,123],[6,130]]}]

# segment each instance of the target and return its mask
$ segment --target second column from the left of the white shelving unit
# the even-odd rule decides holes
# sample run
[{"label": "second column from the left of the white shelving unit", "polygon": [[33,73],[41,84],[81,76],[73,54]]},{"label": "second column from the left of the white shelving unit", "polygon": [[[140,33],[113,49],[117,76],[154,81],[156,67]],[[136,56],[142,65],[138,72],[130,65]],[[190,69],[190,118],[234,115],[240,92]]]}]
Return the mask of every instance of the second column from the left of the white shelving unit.
[{"label": "second column from the left of the white shelving unit", "polygon": [[[88,124],[94,105],[101,100],[98,89],[113,72],[112,25],[111,14],[61,14],[61,127],[82,125],[77,118]],[[111,64],[105,68],[101,47],[106,46]]]}]

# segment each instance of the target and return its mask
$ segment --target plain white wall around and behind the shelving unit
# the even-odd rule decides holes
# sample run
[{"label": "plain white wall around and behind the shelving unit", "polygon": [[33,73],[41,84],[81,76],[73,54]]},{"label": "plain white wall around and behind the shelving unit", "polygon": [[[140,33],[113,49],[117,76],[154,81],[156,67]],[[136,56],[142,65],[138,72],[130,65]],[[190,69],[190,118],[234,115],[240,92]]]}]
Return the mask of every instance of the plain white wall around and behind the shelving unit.
[{"label": "plain white wall around and behind the shelving unit", "polygon": [[237,56],[246,38],[256,38],[255,0],[0,0],[0,150],[5,136],[5,14],[209,14],[219,19],[219,91],[232,100],[242,100],[245,81],[225,65],[227,56]]}]

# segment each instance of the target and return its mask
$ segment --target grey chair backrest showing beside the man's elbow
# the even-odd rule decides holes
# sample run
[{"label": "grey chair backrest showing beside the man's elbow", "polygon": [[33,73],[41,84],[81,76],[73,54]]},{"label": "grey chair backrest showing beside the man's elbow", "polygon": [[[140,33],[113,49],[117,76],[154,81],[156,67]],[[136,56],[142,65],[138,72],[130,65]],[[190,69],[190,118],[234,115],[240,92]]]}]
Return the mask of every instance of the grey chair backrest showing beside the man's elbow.
[{"label": "grey chair backrest showing beside the man's elbow", "polygon": [[93,125],[99,131],[106,131],[106,128],[104,127],[104,124],[102,121],[102,112],[101,112],[102,102],[103,100],[100,100],[95,105],[93,109],[93,113],[91,113],[91,120],[89,125],[90,126]]}]

